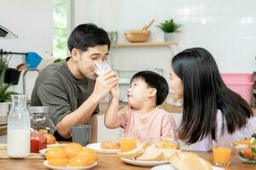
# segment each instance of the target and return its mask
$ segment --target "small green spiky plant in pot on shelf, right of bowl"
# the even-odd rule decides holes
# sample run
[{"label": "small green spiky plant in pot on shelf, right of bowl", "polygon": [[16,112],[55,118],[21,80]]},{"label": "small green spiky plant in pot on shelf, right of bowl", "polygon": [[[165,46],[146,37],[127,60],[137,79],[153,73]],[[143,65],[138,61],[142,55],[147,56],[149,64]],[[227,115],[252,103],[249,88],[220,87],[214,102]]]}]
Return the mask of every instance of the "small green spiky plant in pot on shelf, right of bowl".
[{"label": "small green spiky plant in pot on shelf, right of bowl", "polygon": [[171,42],[175,40],[174,32],[177,32],[178,28],[181,26],[182,25],[175,23],[173,19],[166,20],[165,22],[162,22],[160,23],[160,25],[158,25],[158,27],[160,27],[160,29],[165,32],[166,42]]}]

